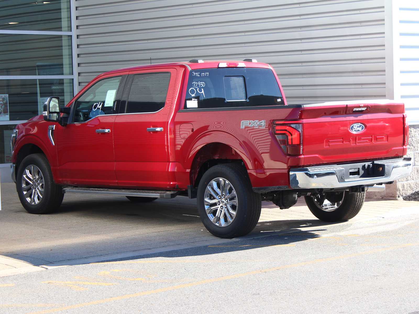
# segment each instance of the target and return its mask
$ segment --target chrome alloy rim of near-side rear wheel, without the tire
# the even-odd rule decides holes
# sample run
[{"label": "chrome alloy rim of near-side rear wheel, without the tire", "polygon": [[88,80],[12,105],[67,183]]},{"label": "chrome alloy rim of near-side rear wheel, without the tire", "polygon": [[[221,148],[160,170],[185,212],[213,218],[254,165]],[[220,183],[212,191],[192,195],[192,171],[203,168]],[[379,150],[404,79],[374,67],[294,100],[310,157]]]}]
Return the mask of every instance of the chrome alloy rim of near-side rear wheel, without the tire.
[{"label": "chrome alloy rim of near-side rear wheel, without the tire", "polygon": [[237,195],[228,180],[215,178],[208,183],[204,194],[204,208],[213,224],[228,226],[237,214]]}]

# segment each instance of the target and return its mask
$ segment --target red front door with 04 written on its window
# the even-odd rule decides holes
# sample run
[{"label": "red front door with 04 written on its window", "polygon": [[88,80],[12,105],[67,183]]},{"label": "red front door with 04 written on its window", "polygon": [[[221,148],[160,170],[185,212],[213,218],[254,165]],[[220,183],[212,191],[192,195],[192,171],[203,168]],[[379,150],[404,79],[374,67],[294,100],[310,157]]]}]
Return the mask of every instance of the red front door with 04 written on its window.
[{"label": "red front door with 04 written on its window", "polygon": [[72,104],[67,126],[56,126],[63,184],[117,185],[113,127],[127,75],[100,77]]}]

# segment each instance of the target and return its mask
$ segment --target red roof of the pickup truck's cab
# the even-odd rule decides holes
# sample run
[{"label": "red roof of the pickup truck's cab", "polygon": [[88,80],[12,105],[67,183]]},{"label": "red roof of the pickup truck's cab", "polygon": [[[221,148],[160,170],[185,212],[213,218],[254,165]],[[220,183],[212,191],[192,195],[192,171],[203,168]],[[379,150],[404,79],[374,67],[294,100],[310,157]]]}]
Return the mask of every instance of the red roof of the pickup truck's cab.
[{"label": "red roof of the pickup truck's cab", "polygon": [[171,62],[171,63],[160,63],[160,64],[146,64],[146,65],[139,65],[135,67],[126,67],[122,69],[115,69],[108,72],[103,73],[102,75],[116,73],[116,72],[126,72],[126,71],[135,71],[135,70],[146,70],[146,69],[156,69],[160,67],[173,67],[173,66],[186,66],[191,70],[197,69],[210,69],[210,68],[217,68],[218,64],[220,63],[244,63],[246,67],[257,67],[257,68],[264,68],[270,69],[271,66],[267,63],[262,62],[248,62],[248,61],[238,61],[238,60],[218,60],[218,61],[204,61],[204,62]]}]

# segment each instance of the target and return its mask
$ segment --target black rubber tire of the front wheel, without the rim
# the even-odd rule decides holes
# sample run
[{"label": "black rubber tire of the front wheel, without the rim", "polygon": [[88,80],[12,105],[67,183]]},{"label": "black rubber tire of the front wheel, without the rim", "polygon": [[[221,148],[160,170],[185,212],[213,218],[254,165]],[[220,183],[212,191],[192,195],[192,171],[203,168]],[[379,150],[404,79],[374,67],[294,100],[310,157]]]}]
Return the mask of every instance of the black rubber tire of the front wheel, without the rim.
[{"label": "black rubber tire of the front wheel, without the rim", "polygon": [[[38,167],[39,170],[41,170],[44,179],[44,193],[41,200],[36,205],[31,205],[26,200],[22,187],[23,171],[30,165]],[[59,208],[62,203],[62,199],[64,198],[61,186],[55,184],[54,178],[52,178],[51,167],[49,166],[48,160],[44,154],[31,154],[22,160],[17,172],[16,190],[22,206],[28,213],[31,214],[51,213]]]}]

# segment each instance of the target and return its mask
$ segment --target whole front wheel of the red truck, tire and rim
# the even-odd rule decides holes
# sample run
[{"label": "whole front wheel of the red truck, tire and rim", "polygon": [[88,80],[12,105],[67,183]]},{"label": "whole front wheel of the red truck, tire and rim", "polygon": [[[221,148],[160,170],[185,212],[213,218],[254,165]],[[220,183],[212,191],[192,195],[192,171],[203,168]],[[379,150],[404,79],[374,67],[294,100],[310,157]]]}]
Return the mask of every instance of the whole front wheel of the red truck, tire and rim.
[{"label": "whole front wheel of the red truck, tire and rim", "polygon": [[22,206],[31,214],[48,214],[59,208],[64,198],[44,154],[31,154],[22,160],[16,190]]}]

